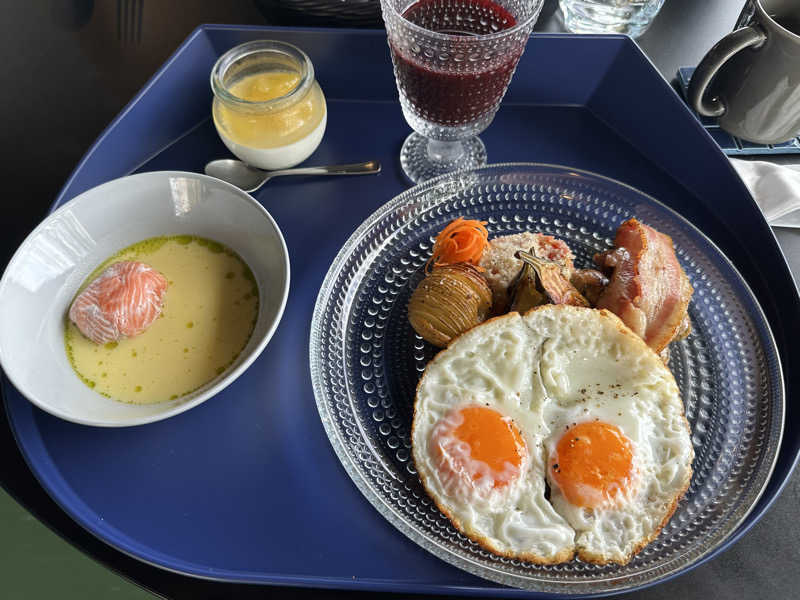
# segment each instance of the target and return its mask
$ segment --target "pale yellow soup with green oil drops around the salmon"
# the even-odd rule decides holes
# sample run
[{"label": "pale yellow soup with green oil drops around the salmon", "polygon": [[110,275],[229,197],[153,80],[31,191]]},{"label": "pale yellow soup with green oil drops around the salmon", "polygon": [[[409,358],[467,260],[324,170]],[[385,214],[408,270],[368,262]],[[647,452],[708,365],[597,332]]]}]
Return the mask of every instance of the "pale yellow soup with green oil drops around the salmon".
[{"label": "pale yellow soup with green oil drops around the salmon", "polygon": [[239,256],[194,236],[151,238],[121,250],[108,265],[138,260],[169,281],[161,316],[141,335],[98,345],[67,320],[67,355],[100,394],[135,404],[179,398],[222,374],[253,333],[258,286]]}]

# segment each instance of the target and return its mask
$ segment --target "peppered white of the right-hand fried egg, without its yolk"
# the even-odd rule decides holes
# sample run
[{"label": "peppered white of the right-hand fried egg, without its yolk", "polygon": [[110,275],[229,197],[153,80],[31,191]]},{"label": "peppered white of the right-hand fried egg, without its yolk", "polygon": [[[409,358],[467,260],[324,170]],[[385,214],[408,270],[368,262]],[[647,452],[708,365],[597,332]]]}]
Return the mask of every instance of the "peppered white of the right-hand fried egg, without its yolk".
[{"label": "peppered white of the right-hand fried egg, without its yolk", "polygon": [[550,500],[575,530],[580,559],[625,563],[658,534],[691,479],[694,452],[680,392],[660,358],[611,313],[548,312],[525,317],[548,336],[540,361],[547,455],[571,425],[599,420],[630,440],[634,470],[613,505],[591,509],[570,504],[548,471]]}]

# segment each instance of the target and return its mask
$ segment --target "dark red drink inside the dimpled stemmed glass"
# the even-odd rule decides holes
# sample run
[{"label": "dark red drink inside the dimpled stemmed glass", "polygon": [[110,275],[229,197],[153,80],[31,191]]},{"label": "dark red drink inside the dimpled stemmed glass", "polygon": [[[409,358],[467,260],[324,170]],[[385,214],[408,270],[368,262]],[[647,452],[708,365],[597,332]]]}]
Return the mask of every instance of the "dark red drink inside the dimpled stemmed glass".
[{"label": "dark red drink inside the dimpled stemmed glass", "polygon": [[[497,33],[516,25],[516,19],[491,0],[419,0],[403,17],[430,31],[464,37],[444,60],[426,57],[424,49],[400,49],[391,44],[400,89],[414,112],[432,123],[458,126],[489,112],[500,101],[522,53],[499,48],[485,59],[469,38]],[[441,54],[441,53],[440,53]]]}]

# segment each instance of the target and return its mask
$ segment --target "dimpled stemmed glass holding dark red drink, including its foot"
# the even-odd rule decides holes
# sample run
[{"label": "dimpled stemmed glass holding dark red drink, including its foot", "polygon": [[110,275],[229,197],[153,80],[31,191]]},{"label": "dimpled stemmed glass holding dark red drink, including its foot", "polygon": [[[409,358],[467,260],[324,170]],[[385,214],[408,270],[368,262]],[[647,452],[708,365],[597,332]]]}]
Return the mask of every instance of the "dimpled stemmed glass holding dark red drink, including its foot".
[{"label": "dimpled stemmed glass holding dark red drink, including its foot", "polygon": [[400,163],[419,183],[486,164],[494,119],[544,0],[381,0],[400,105]]}]

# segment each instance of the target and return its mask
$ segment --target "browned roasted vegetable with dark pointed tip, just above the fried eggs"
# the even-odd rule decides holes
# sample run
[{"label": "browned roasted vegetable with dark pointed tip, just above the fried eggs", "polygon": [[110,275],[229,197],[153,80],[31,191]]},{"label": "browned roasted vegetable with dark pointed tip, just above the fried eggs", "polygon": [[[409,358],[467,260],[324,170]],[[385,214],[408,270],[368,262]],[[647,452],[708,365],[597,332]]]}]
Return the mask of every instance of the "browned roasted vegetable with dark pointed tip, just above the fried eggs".
[{"label": "browned roasted vegetable with dark pointed tip, just above the fried eggs", "polygon": [[[517,312],[524,312],[533,306],[545,304],[571,304],[572,306],[589,306],[589,302],[581,296],[561,272],[561,265],[556,262],[545,260],[534,256],[530,252],[518,251],[515,256],[525,264],[518,276],[520,285],[514,290],[511,296],[509,309]],[[525,269],[528,268],[526,272]],[[531,275],[535,273],[535,277]],[[533,282],[533,285],[531,285]],[[536,302],[534,291],[539,292],[544,301],[527,306],[530,302]]]}]

